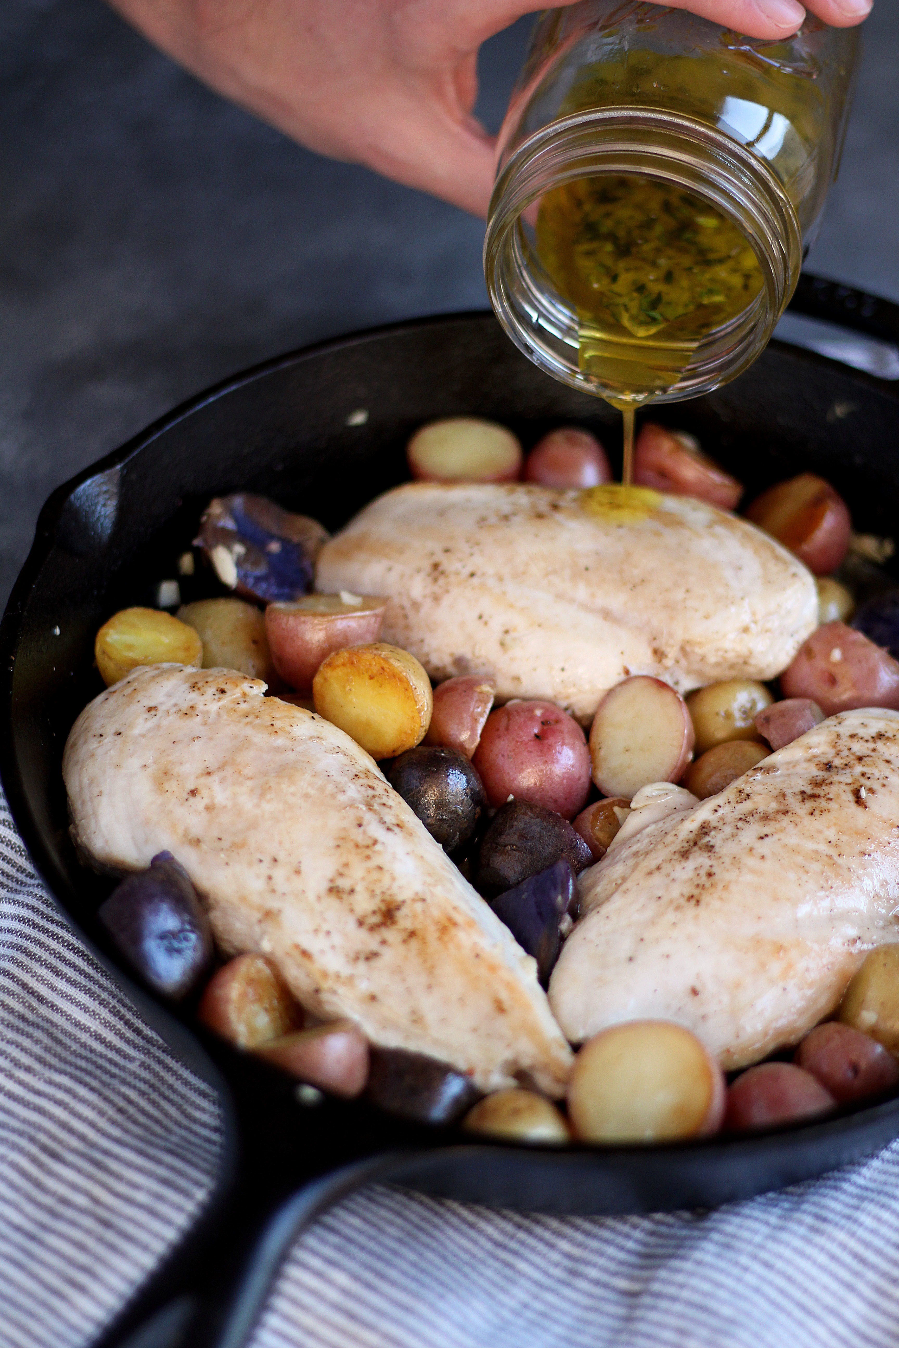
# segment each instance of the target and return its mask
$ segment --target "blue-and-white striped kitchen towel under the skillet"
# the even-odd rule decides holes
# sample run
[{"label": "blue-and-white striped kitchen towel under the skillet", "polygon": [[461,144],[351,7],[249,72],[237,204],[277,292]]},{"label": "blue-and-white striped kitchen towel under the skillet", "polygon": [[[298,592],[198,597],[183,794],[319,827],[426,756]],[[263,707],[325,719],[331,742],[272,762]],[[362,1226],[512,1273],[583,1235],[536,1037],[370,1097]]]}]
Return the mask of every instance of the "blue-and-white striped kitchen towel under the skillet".
[{"label": "blue-and-white striped kitchen towel under the skillet", "polygon": [[[0,1348],[81,1348],[209,1194],[214,1096],[59,915],[0,798]],[[899,1143],[716,1212],[546,1217],[368,1188],[252,1348],[895,1348]],[[189,1345],[186,1345],[189,1348]]]}]

